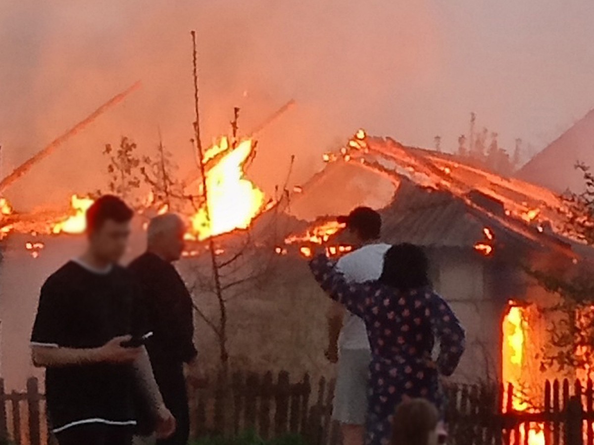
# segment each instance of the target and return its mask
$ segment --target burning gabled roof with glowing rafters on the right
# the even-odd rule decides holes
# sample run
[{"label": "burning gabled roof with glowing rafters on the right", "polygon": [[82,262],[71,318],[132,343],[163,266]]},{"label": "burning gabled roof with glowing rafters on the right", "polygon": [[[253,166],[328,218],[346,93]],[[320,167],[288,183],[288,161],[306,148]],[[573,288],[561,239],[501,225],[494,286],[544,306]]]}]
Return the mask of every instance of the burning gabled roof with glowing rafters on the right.
[{"label": "burning gabled roof with glowing rafters on the right", "polygon": [[[349,147],[327,156],[334,173],[341,164],[352,164],[377,171],[397,186],[393,200],[381,209],[383,237],[390,243],[466,249],[484,243],[510,253],[529,249],[568,259],[583,255],[561,234],[563,202],[551,190],[389,138],[365,136]],[[305,187],[302,199],[323,193],[319,183],[318,178]]]}]

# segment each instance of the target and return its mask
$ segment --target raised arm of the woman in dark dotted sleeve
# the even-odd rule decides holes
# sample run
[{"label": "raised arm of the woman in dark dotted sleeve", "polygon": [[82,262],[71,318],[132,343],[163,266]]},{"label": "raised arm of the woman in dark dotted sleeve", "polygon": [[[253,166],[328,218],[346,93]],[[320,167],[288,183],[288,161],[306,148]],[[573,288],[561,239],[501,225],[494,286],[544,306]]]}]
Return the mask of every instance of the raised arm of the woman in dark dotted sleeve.
[{"label": "raised arm of the woman in dark dotted sleeve", "polygon": [[350,313],[365,318],[366,311],[371,307],[371,285],[347,282],[326,255],[312,259],[309,268],[330,298],[345,306]]}]

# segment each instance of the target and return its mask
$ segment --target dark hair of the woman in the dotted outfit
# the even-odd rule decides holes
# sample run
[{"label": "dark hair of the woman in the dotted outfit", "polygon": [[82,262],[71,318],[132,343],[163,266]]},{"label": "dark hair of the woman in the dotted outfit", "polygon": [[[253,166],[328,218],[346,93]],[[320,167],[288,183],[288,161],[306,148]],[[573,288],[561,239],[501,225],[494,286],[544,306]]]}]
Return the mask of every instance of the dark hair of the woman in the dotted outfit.
[{"label": "dark hair of the woman in the dotted outfit", "polygon": [[407,291],[430,284],[429,260],[423,249],[413,244],[396,244],[384,256],[380,282]]}]

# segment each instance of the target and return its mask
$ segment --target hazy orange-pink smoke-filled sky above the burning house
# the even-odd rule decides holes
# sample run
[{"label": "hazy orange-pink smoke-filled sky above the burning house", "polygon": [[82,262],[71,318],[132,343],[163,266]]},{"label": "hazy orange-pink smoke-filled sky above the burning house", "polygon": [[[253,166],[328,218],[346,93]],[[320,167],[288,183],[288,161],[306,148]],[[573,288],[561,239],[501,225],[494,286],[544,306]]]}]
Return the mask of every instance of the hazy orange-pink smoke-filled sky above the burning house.
[{"label": "hazy orange-pink smoke-filled sky above the burning house", "polygon": [[252,179],[270,192],[290,155],[293,182],[357,128],[446,150],[478,125],[543,148],[594,107],[592,0],[55,0],[0,5],[3,174],[137,80],[141,90],[72,138],[12,201],[66,202],[105,186],[101,151],[122,135],[158,140],[192,166],[191,40],[198,34],[204,139],[261,135]]}]

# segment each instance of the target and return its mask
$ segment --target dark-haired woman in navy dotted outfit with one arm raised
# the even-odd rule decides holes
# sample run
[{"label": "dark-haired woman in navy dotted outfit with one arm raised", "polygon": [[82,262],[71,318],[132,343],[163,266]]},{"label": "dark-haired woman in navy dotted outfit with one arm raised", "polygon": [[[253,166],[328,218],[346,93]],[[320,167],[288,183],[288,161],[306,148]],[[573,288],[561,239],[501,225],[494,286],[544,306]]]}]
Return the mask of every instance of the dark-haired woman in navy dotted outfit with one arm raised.
[{"label": "dark-haired woman in navy dotted outfit with one arm raised", "polygon": [[[347,282],[324,255],[310,266],[324,291],[365,321],[372,353],[365,441],[387,445],[403,396],[425,398],[441,408],[440,376],[456,369],[465,332],[432,290],[428,260],[417,246],[391,247],[380,279],[364,284]],[[435,339],[440,342],[437,361],[431,356]]]}]

